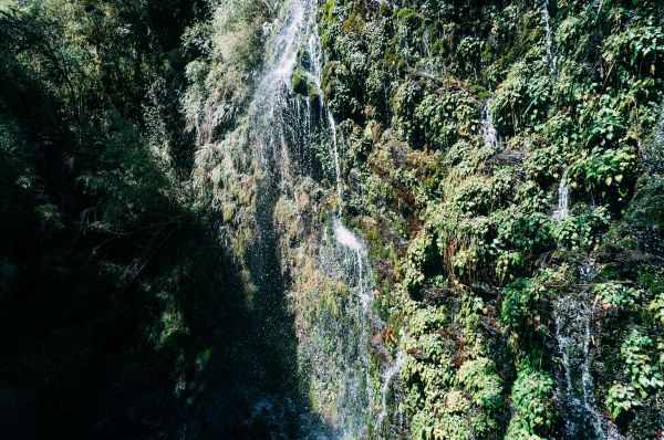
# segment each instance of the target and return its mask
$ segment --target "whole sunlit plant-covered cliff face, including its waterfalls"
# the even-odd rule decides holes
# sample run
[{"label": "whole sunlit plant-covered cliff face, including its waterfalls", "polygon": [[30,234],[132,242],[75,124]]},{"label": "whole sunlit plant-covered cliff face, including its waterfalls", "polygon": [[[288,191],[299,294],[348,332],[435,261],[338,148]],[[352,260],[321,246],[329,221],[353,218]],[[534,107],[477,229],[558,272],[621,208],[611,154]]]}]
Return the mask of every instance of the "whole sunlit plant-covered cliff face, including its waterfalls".
[{"label": "whole sunlit plant-covered cliff face, including its waterfalls", "polygon": [[[253,284],[269,231],[303,392],[332,426],[660,436],[663,17],[656,1],[218,7],[189,70],[199,188]],[[354,369],[369,376],[349,404]]]}]

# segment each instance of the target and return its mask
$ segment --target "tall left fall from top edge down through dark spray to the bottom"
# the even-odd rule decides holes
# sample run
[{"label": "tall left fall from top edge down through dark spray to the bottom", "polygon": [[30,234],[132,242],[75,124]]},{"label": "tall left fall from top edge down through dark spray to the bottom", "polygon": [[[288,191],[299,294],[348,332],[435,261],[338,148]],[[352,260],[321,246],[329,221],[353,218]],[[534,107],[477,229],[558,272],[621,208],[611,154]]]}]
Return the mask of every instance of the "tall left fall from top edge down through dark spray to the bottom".
[{"label": "tall left fall from top edge down through dark spray to the bottom", "polygon": [[[253,294],[253,311],[262,325],[263,356],[269,368],[257,375],[270,389],[269,396],[252,397],[252,423],[267,426],[269,439],[324,439],[325,429],[317,417],[304,411],[302,397],[295,391],[299,379],[290,367],[297,358],[292,315],[286,300],[288,290],[277,254],[279,235],[274,210],[282,191],[292,187],[293,168],[310,161],[311,117],[291,91],[291,75],[298,63],[298,51],[314,18],[308,11],[312,3],[291,0],[283,3],[274,21],[264,27],[266,64],[247,113],[247,138],[257,174],[255,230],[256,240],[248,250],[247,265]],[[292,371],[292,373],[290,373]],[[297,401],[294,404],[293,401]],[[247,421],[245,421],[247,423]]]}]

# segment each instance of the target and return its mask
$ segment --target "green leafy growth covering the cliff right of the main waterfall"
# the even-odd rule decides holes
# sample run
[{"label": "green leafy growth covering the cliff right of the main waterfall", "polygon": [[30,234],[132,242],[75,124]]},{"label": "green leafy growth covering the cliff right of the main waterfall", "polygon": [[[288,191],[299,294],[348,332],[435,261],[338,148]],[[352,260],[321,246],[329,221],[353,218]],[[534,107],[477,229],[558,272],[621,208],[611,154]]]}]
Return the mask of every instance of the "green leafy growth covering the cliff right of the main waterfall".
[{"label": "green leafy growth covering the cliff right of the main waterfall", "polygon": [[[548,12],[550,35],[520,1],[322,8],[346,210],[407,334],[415,439],[564,437],[551,307],[581,289],[598,410],[661,429],[661,6]],[[587,258],[601,270],[581,281]]]}]

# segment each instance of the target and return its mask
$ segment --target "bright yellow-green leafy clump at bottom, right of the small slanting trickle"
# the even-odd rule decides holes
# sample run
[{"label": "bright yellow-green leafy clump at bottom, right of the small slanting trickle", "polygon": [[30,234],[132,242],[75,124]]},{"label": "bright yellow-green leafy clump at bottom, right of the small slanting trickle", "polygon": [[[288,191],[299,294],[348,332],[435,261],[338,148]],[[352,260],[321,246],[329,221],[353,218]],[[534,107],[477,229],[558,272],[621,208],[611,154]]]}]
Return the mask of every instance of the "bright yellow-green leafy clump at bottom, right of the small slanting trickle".
[{"label": "bright yellow-green leafy clump at bottom, right of the small slanting trickle", "polygon": [[[457,319],[457,325],[464,325],[464,319]],[[400,376],[406,386],[404,405],[413,438],[484,438],[499,428],[502,384],[496,366],[481,355],[481,343],[469,353],[459,353],[463,346],[448,339],[454,327],[440,307],[417,308],[407,323],[408,356]],[[471,343],[476,336],[466,337]]]}]

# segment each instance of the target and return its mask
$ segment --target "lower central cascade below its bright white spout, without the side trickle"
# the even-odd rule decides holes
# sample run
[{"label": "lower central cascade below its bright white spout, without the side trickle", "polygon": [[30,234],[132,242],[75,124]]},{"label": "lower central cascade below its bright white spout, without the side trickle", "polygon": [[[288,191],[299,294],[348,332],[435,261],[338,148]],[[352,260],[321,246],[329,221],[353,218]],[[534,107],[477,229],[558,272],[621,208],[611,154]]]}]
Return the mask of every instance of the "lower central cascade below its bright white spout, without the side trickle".
[{"label": "lower central cascade below its bright white spout, without the side trickle", "polygon": [[[369,436],[375,398],[370,380],[369,342],[373,332],[371,272],[366,250],[360,239],[333,219],[319,249],[320,265],[326,276],[347,286],[338,296],[338,314],[322,313],[315,332],[324,343],[312,363],[321,383],[333,381],[333,406],[342,439]],[[314,336],[314,335],[312,335]],[[328,348],[325,348],[328,347]]]}]

